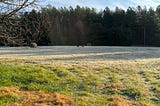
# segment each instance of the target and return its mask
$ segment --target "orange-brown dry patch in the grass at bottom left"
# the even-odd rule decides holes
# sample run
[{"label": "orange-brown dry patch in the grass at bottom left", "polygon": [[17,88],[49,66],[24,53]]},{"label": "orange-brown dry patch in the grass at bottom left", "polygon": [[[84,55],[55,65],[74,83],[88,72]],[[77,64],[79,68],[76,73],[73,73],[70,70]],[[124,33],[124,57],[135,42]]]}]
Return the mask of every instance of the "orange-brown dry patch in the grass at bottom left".
[{"label": "orange-brown dry patch in the grass at bottom left", "polygon": [[0,94],[20,97],[19,102],[9,104],[9,106],[72,106],[71,99],[59,93],[24,91],[16,87],[4,87],[0,89]]}]

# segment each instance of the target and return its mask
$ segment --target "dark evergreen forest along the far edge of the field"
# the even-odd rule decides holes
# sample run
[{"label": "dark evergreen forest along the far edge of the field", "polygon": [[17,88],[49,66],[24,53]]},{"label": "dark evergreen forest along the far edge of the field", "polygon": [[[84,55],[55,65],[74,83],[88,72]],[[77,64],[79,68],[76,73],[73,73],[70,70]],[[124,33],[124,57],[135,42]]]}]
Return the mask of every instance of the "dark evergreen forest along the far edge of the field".
[{"label": "dark evergreen forest along the far edge of the field", "polygon": [[160,46],[160,5],[156,9],[106,7],[101,11],[78,5],[48,5],[41,10],[20,12],[11,21],[17,23],[4,25],[1,32],[41,46]]}]

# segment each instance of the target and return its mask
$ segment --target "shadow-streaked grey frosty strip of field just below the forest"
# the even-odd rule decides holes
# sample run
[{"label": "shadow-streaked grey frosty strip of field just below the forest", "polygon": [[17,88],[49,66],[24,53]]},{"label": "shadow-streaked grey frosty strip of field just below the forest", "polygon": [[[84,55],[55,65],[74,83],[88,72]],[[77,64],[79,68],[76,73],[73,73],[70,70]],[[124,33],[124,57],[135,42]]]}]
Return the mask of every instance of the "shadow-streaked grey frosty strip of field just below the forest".
[{"label": "shadow-streaked grey frosty strip of field just below the forest", "polygon": [[[109,46],[39,46],[0,48],[0,58],[28,59],[41,61],[95,61],[95,60],[138,60],[160,58],[159,47],[109,47]],[[32,58],[29,58],[32,59]],[[46,59],[46,60],[45,60]],[[48,60],[47,60],[48,59]]]}]

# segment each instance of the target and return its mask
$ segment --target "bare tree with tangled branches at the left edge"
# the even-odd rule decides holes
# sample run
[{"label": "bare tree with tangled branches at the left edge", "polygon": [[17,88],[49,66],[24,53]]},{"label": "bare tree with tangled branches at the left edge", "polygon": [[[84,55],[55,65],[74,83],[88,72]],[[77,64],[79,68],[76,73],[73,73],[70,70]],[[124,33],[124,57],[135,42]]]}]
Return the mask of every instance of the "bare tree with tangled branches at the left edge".
[{"label": "bare tree with tangled branches at the left edge", "polygon": [[36,2],[37,0],[0,0],[0,43],[15,42],[10,38],[17,37],[17,33],[21,32],[18,14]]}]

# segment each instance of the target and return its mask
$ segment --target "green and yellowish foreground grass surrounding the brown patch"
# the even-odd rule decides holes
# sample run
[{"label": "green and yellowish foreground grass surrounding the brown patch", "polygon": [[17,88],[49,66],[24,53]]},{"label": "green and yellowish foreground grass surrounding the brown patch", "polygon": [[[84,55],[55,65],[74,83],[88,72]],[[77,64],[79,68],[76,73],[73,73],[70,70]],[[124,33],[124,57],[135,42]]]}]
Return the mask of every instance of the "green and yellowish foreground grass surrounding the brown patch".
[{"label": "green and yellowish foreground grass surrounding the brown patch", "polygon": [[[0,87],[58,92],[70,96],[77,106],[114,106],[117,99],[135,106],[160,105],[159,68],[147,64],[96,68],[0,64]],[[18,96],[0,95],[1,106],[17,101]]]}]

